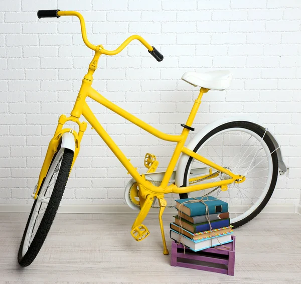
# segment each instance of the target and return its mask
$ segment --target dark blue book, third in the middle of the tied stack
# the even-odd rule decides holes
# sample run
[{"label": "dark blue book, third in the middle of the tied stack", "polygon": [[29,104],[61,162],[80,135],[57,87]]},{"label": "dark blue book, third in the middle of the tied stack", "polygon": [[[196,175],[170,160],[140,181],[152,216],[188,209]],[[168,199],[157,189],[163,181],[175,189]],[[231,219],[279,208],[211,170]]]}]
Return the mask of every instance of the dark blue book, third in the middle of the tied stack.
[{"label": "dark blue book, third in the middle of the tied stack", "polygon": [[[180,221],[179,221],[179,216],[176,215],[175,217],[175,224],[181,227]],[[203,222],[203,223],[197,223],[193,224],[190,223],[187,220],[181,219],[181,224],[182,227],[192,233],[198,233],[198,232],[203,232],[203,231],[208,231],[210,230],[210,226],[208,222]],[[216,220],[216,221],[210,221],[212,229],[218,229],[221,227],[228,227],[230,226],[230,219],[222,219],[222,220]]]}]

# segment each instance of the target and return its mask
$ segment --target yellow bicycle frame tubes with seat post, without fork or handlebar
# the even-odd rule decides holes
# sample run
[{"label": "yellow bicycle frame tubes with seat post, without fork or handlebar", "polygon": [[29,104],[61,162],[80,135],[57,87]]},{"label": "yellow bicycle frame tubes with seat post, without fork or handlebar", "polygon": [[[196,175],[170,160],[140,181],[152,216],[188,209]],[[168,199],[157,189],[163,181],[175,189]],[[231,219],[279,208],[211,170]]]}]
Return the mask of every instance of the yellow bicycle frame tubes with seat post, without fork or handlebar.
[{"label": "yellow bicycle frame tubes with seat post, without fork or handlebar", "polygon": [[[200,105],[200,100],[201,100],[201,97],[202,97],[204,91],[205,90],[200,91],[199,98],[195,101],[195,104],[194,104],[192,111],[189,115],[189,118],[186,122],[186,125],[188,125],[188,126],[191,126],[191,124],[192,124],[192,121],[197,113],[198,107]],[[125,155],[122,153],[122,151],[117,147],[117,145],[111,139],[109,134],[104,130],[104,128],[98,122],[95,115],[93,114],[93,112],[91,111],[91,109],[89,108],[87,103],[85,102],[85,96],[81,96],[81,99],[76,102],[74,109],[71,112],[71,115],[78,115],[79,113],[82,113],[82,115],[87,119],[87,121],[92,125],[92,127],[96,130],[96,132],[100,135],[100,137],[105,141],[105,143],[111,149],[111,151],[114,153],[114,155],[118,158],[118,160],[121,162],[121,164],[124,166],[124,168],[133,177],[133,179],[138,184],[141,184],[143,187],[145,187],[147,190],[149,190],[150,192],[153,192],[156,194],[171,193],[171,192],[173,192],[173,193],[191,192],[191,191],[195,191],[195,190],[216,187],[216,186],[220,186],[220,185],[224,185],[224,184],[230,184],[238,178],[234,174],[232,174],[229,170],[224,169],[223,167],[220,167],[219,165],[214,164],[213,162],[205,159],[204,157],[201,157],[198,154],[186,149],[184,147],[184,144],[185,144],[185,141],[189,134],[189,129],[183,128],[181,135],[166,134],[166,133],[163,133],[163,132],[159,131],[158,129],[154,128],[153,126],[148,125],[147,123],[138,119],[134,115],[128,113],[124,109],[122,109],[119,106],[115,105],[114,103],[110,102],[105,97],[103,97],[101,94],[99,94],[97,91],[95,91],[92,87],[84,86],[83,89],[80,91],[80,93],[86,93],[87,94],[86,96],[92,98],[93,100],[102,104],[106,108],[119,114],[120,116],[124,117],[128,121],[134,123],[138,127],[155,135],[156,137],[163,139],[163,140],[173,141],[173,142],[177,143],[174,154],[167,167],[167,170],[166,170],[166,173],[164,175],[161,185],[159,187],[150,185],[149,182],[146,182],[146,180],[138,173],[136,168],[134,168],[134,166],[128,161],[128,159],[125,157]],[[191,157],[194,157],[195,159],[199,160],[200,162],[202,162],[218,171],[228,174],[229,176],[232,177],[232,179],[230,179],[226,182],[221,181],[221,182],[215,182],[215,183],[208,183],[208,184],[206,184],[206,186],[196,185],[196,186],[179,188],[179,187],[173,185],[171,187],[168,187],[167,186],[168,182],[170,181],[172,173],[176,167],[176,163],[182,152]]]}]

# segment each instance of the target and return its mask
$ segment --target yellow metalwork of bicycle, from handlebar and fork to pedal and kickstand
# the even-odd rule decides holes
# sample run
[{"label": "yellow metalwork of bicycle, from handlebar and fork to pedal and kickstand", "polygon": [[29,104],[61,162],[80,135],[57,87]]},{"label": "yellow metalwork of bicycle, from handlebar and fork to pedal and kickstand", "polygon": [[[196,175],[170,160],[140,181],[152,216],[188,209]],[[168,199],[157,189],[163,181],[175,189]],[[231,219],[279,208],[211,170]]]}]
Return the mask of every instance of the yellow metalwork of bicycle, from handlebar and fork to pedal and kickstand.
[{"label": "yellow metalwork of bicycle, from handlebar and fork to pedal and kickstand", "polygon": [[[132,115],[129,112],[125,111],[124,109],[120,108],[116,104],[112,103],[111,101],[109,101],[108,99],[103,97],[100,93],[98,93],[96,90],[94,90],[92,88],[91,85],[93,82],[93,73],[97,68],[98,59],[102,54],[105,54],[105,55],[118,54],[132,40],[140,41],[149,51],[152,51],[153,47],[150,46],[143,38],[141,38],[140,36],[137,36],[137,35],[131,36],[127,40],[125,40],[117,49],[115,49],[113,51],[109,51],[109,50],[104,49],[103,46],[101,46],[101,45],[98,45],[98,46],[92,45],[87,40],[84,19],[78,12],[60,11],[60,12],[58,12],[58,15],[59,16],[76,16],[79,18],[80,24],[81,24],[83,41],[90,49],[93,49],[95,51],[95,55],[89,65],[87,74],[84,76],[84,78],[82,80],[82,85],[79,90],[78,96],[76,98],[76,102],[74,104],[73,110],[71,111],[70,117],[67,118],[65,115],[61,115],[61,117],[59,118],[58,126],[55,131],[54,137],[51,139],[49,147],[48,147],[45,161],[44,161],[44,164],[43,164],[40,176],[39,176],[38,185],[35,190],[34,198],[37,198],[37,195],[41,188],[42,182],[47,175],[47,171],[50,167],[53,156],[55,155],[57,148],[59,146],[60,138],[61,138],[62,134],[70,131],[69,128],[63,129],[64,123],[66,121],[70,121],[70,120],[73,122],[76,122],[79,125],[78,134],[76,133],[76,131],[72,132],[74,135],[75,146],[76,146],[74,160],[73,160],[73,164],[74,164],[76,157],[79,153],[80,141],[81,141],[84,131],[86,130],[86,127],[87,127],[87,124],[85,122],[79,121],[79,118],[81,117],[81,115],[83,115],[86,118],[86,120],[91,124],[91,126],[96,130],[96,132],[100,135],[100,137],[104,140],[106,145],[114,153],[114,155],[121,162],[121,164],[124,166],[124,168],[128,171],[128,173],[133,177],[133,179],[138,184],[141,210],[132,226],[132,235],[134,236],[134,233],[137,232],[137,230],[138,230],[137,228],[139,228],[139,226],[140,226],[140,228],[141,228],[141,226],[144,226],[141,224],[141,222],[147,215],[147,213],[150,209],[150,206],[152,205],[152,202],[154,200],[154,197],[157,197],[159,200],[159,204],[160,204],[159,220],[160,220],[161,232],[162,232],[163,243],[164,243],[164,253],[168,254],[168,250],[166,247],[166,241],[165,241],[165,237],[164,237],[163,223],[162,223],[162,214],[167,205],[166,200],[164,199],[164,194],[188,193],[188,192],[204,190],[204,189],[218,187],[218,186],[225,187],[233,182],[238,182],[239,180],[242,180],[243,177],[241,177],[239,175],[235,175],[228,169],[225,169],[225,168],[213,163],[212,161],[209,161],[206,158],[198,155],[197,153],[185,148],[185,146],[184,146],[185,141],[186,141],[187,136],[190,131],[188,128],[184,127],[182,130],[182,133],[180,135],[170,135],[170,134],[161,132],[160,130],[156,129],[155,127],[145,123],[144,121],[140,120],[139,118],[135,117],[134,115]],[[201,104],[202,95],[208,91],[209,91],[209,89],[205,89],[205,88],[200,89],[198,98],[195,100],[192,110],[186,121],[187,126],[192,125],[194,118],[196,116],[196,113]],[[145,179],[144,175],[140,175],[138,173],[136,168],[130,163],[129,159],[127,159],[125,157],[125,155],[122,153],[122,151],[119,149],[119,147],[112,140],[110,135],[105,131],[105,129],[101,126],[99,121],[96,119],[95,115],[93,114],[93,112],[89,108],[88,104],[86,103],[87,97],[93,99],[94,101],[100,103],[101,105],[105,106],[106,108],[112,110],[113,112],[122,116],[126,120],[132,122],[133,124],[137,125],[138,127],[149,132],[150,134],[153,134],[160,139],[177,143],[175,151],[172,155],[172,158],[170,160],[170,163],[167,167],[167,170],[165,172],[164,178],[163,178],[160,186],[153,185],[152,183],[150,183],[149,181],[147,181]],[[196,184],[196,185],[191,185],[191,186],[186,186],[186,187],[177,187],[175,184],[168,185],[181,153],[189,155],[190,157],[193,157],[194,159],[208,165],[210,168],[216,169],[219,172],[227,174],[231,178],[227,179],[227,180],[221,180],[221,181],[217,181],[217,182],[209,182],[209,183],[204,183],[204,184]],[[72,164],[72,166],[73,166],[73,164]],[[140,233],[138,232],[138,234],[140,234]],[[138,239],[135,236],[134,236],[134,238],[136,240],[142,239],[142,238]]]}]

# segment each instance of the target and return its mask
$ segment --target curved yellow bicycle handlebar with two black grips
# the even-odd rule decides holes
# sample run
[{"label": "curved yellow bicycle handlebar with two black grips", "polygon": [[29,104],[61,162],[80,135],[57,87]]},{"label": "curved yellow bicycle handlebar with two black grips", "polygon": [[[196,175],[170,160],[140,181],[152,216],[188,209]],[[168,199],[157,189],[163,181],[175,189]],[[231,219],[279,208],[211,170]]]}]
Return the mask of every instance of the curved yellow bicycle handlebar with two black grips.
[{"label": "curved yellow bicycle handlebar with two black grips", "polygon": [[[60,11],[60,10],[39,10],[38,18],[59,18],[61,16],[75,16],[79,19],[81,34],[85,45],[92,49],[96,50],[98,46],[91,44],[87,38],[86,25],[83,16],[76,11]],[[150,54],[156,58],[157,61],[162,61],[164,56],[153,46],[150,46],[142,37],[134,35],[127,38],[117,49],[115,50],[106,50],[101,48],[101,53],[105,55],[116,55],[121,52],[132,40],[138,40],[141,44],[143,44]]]}]

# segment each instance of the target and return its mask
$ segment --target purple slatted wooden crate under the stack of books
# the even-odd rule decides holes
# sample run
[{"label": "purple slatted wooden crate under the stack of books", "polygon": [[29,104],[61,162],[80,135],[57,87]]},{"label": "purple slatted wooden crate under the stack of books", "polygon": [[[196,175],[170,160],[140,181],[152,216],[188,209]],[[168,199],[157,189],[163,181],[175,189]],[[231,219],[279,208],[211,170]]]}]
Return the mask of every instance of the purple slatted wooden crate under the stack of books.
[{"label": "purple slatted wooden crate under the stack of books", "polygon": [[[193,268],[233,276],[235,265],[235,236],[231,236],[233,242],[225,244],[229,250],[218,250],[213,247],[194,252],[186,247],[186,253],[182,252],[183,244],[172,242],[171,265]],[[183,260],[181,260],[181,259]],[[206,264],[209,264],[208,266]],[[210,266],[211,265],[211,266]],[[214,267],[224,265],[225,268]]]}]

